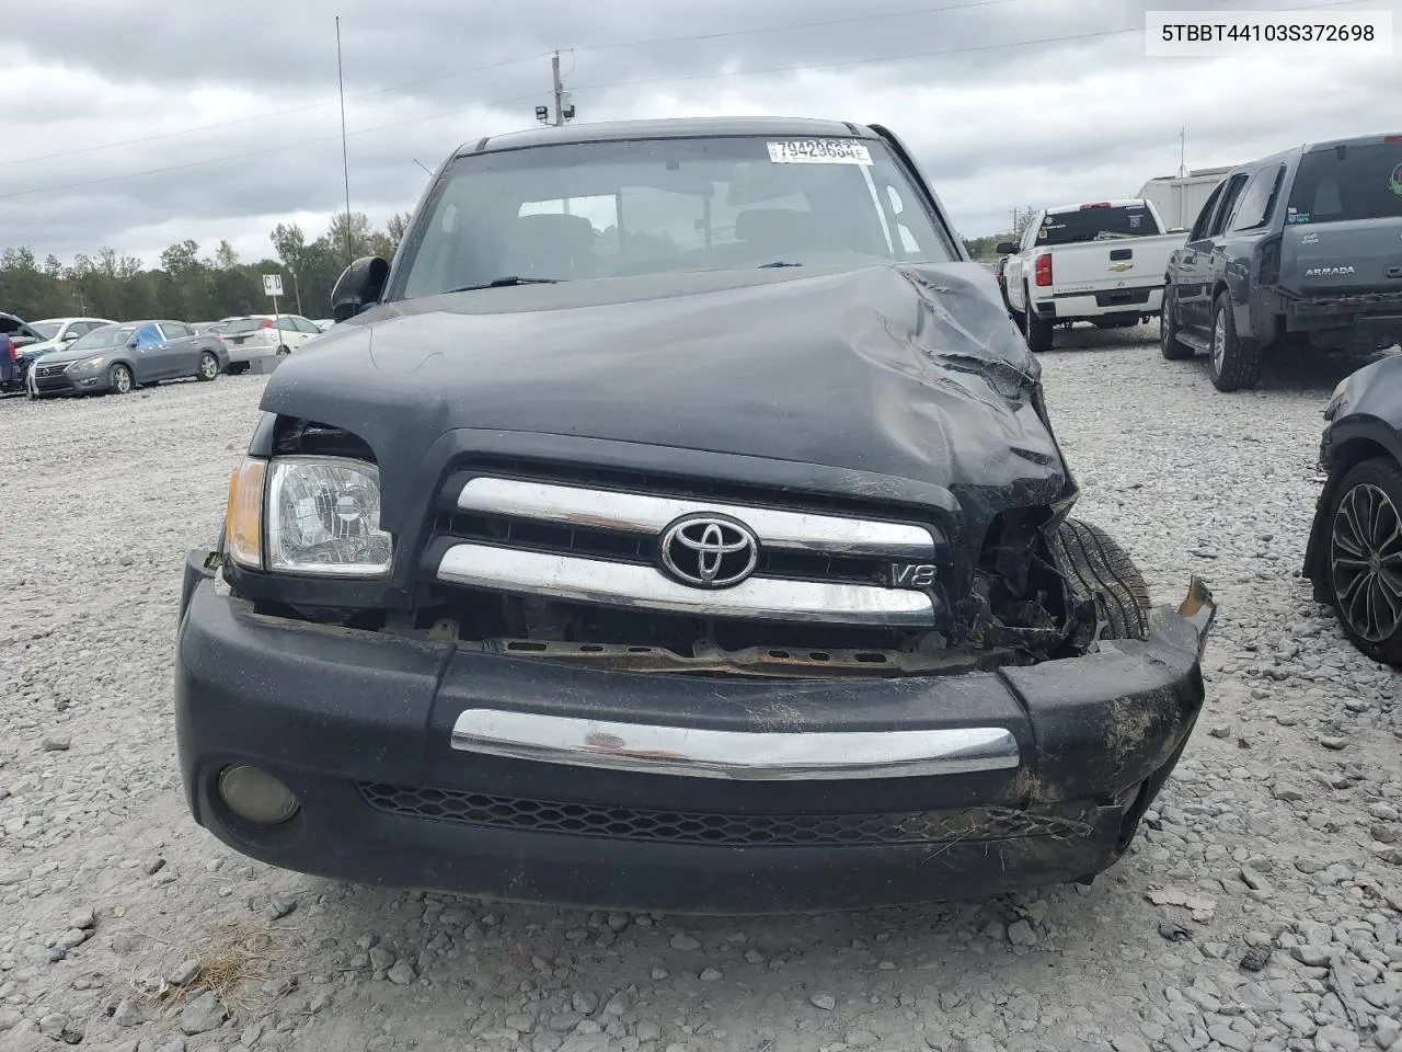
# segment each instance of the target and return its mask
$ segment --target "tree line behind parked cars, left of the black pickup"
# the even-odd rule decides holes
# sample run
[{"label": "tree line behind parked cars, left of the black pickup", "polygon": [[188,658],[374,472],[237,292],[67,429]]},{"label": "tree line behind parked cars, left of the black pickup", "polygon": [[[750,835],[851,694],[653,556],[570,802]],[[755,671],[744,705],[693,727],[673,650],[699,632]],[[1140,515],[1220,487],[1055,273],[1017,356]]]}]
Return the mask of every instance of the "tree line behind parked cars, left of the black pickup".
[{"label": "tree line behind parked cars, left of the black pickup", "polygon": [[279,223],[268,234],[272,255],[247,262],[229,241],[205,255],[192,238],[170,245],[154,268],[115,248],[80,252],[69,265],[55,255],[41,261],[31,248],[6,248],[0,252],[0,310],[25,320],[212,321],[269,313],[272,302],[264,295],[262,275],[280,274],[285,295],[279,310],[325,317],[331,289],[346,264],[360,255],[390,258],[408,220],[408,215],[395,213],[376,229],[363,212],[350,213],[349,222],[342,213],[313,241],[296,223]]}]

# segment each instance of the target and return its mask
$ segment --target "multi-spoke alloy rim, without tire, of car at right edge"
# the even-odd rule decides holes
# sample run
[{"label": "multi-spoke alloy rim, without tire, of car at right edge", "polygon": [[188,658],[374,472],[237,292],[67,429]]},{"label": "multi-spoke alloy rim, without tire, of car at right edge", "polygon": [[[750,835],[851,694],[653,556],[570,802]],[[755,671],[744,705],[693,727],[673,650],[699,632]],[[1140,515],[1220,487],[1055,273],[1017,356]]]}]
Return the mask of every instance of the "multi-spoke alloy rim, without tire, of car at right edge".
[{"label": "multi-spoke alloy rim, without tire, of car at right edge", "polygon": [[1368,642],[1402,626],[1402,518],[1373,483],[1359,483],[1339,501],[1329,539],[1339,612]]}]

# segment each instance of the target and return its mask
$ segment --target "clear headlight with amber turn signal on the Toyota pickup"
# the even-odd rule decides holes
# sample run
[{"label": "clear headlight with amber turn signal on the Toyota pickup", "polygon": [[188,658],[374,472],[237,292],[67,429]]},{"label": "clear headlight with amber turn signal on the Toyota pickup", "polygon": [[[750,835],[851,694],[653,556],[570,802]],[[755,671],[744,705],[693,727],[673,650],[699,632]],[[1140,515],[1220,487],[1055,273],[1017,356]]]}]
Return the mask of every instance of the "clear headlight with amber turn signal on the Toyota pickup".
[{"label": "clear headlight with amber turn signal on the Toyota pickup", "polygon": [[250,457],[230,478],[226,539],[251,569],[386,574],[393,540],[380,529],[380,471],[346,457]]}]

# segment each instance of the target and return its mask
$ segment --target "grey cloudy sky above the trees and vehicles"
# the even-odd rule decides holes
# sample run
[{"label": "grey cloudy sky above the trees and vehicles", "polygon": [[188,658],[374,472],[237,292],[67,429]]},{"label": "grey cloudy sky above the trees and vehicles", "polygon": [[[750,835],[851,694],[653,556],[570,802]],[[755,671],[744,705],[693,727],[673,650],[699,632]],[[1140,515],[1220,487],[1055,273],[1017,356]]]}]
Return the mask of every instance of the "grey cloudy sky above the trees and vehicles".
[{"label": "grey cloudy sky above the trees and vehicles", "polygon": [[[1133,195],[1179,164],[1398,130],[1392,58],[1150,59],[1144,11],[1304,0],[381,0],[286,6],[21,0],[0,34],[0,248],[111,245],[154,261],[193,237],[271,255],[343,208],[414,206],[444,153],[534,123],[559,49],[579,121],[787,114],[883,122],[967,237],[1014,206]],[[1402,0],[1321,0],[1336,13]]]}]

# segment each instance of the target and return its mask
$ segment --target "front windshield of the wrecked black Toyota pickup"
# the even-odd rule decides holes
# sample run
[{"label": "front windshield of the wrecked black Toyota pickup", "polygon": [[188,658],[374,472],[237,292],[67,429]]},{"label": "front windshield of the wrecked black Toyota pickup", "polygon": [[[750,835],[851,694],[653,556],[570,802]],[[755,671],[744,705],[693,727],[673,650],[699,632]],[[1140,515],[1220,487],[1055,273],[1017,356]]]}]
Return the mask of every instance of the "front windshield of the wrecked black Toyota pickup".
[{"label": "front windshield of the wrecked black Toyota pickup", "polygon": [[580,143],[453,161],[398,295],[773,264],[949,261],[878,142],[726,136]]}]

